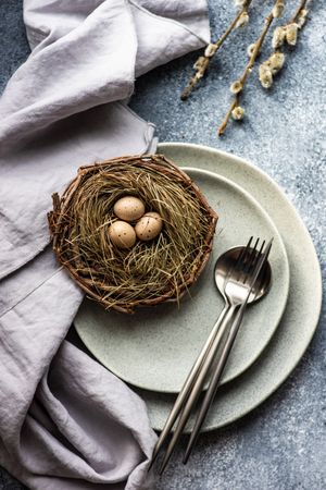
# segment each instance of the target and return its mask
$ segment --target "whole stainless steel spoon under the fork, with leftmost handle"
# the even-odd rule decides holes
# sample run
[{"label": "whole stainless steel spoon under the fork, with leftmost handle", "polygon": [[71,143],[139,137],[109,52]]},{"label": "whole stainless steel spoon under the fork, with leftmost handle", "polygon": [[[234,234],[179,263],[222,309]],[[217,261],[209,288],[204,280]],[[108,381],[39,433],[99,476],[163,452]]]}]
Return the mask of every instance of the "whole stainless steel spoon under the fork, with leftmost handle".
[{"label": "whole stainless steel spoon under the fork, with leftmost handle", "polygon": [[[216,320],[201,353],[199,354],[196,363],[193,364],[193,366],[184,383],[184,387],[181,388],[181,390],[176,399],[176,402],[171,411],[171,414],[163,427],[163,430],[162,430],[160,438],[156,442],[156,445],[154,448],[151,465],[155,461],[163,443],[165,442],[166,438],[168,437],[179,413],[181,412],[184,404],[185,404],[187,397],[189,396],[191,389],[197,381],[197,378],[200,375],[201,367],[211,350],[212,344],[214,342],[216,343],[216,341],[218,342],[220,340],[222,340],[225,328],[231,320],[231,317],[235,311],[230,311],[230,304],[225,295],[225,285],[226,285],[227,281],[231,280],[234,278],[234,275],[236,274],[237,264],[238,264],[239,259],[241,258],[241,256],[243,256],[243,254],[246,254],[250,250],[251,242],[252,242],[252,238],[249,241],[247,247],[243,247],[243,246],[242,247],[234,247],[234,248],[230,248],[229,250],[225,252],[222,256],[218,257],[218,259],[215,264],[214,279],[215,279],[215,283],[216,283],[216,286],[217,286],[220,293],[224,297],[225,305],[224,305],[224,308],[223,308],[218,319]],[[256,284],[252,289],[252,292],[249,296],[248,303],[252,303],[252,302],[260,299],[268,291],[271,278],[272,278],[271,267],[269,267],[269,264],[266,262],[266,266],[264,267],[264,269],[261,271],[261,273],[259,275],[259,280],[256,281]],[[231,313],[231,315],[230,315],[230,313]],[[221,328],[221,327],[224,327],[224,328]],[[220,338],[220,340],[216,339],[217,336]]]}]

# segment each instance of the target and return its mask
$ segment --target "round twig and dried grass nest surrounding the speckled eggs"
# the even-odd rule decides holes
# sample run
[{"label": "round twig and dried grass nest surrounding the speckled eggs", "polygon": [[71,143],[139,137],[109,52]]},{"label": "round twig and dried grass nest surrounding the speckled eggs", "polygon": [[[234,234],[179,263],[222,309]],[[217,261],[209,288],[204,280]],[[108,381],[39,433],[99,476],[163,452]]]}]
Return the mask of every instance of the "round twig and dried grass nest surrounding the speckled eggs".
[{"label": "round twig and dried grass nest surrounding the speckled eggs", "polygon": [[[163,220],[160,235],[120,249],[108,229],[114,204],[139,197]],[[53,250],[73,279],[105,308],[179,301],[203,270],[216,213],[190,177],[162,155],[116,158],[82,167],[48,215]],[[131,223],[135,224],[135,223]]]}]

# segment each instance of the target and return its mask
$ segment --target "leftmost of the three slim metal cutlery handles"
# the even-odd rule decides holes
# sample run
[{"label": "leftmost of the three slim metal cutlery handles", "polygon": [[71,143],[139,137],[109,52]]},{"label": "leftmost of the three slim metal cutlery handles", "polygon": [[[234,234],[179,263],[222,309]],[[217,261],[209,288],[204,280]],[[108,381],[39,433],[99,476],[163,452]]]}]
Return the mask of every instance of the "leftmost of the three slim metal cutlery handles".
[{"label": "leftmost of the three slim metal cutlery handles", "polygon": [[192,387],[193,387],[193,384],[195,384],[195,382],[196,382],[196,380],[197,380],[197,378],[199,376],[201,367],[202,367],[202,365],[203,365],[203,363],[204,363],[204,360],[205,360],[205,358],[208,356],[208,353],[211,350],[211,346],[212,346],[212,344],[213,344],[213,342],[214,342],[214,340],[215,340],[215,338],[216,338],[216,335],[217,335],[217,333],[218,333],[218,331],[221,329],[221,326],[224,323],[225,317],[227,316],[229,308],[230,308],[230,306],[226,303],[224,308],[223,308],[223,310],[221,311],[220,317],[217,318],[213,329],[211,330],[211,333],[208,336],[208,340],[206,340],[204,346],[202,347],[202,350],[201,350],[201,352],[200,352],[196,363],[193,364],[193,366],[192,366],[192,368],[191,368],[191,370],[190,370],[190,372],[189,372],[189,375],[188,375],[188,377],[187,377],[187,379],[186,379],[186,381],[185,381],[185,383],[184,383],[184,385],[183,385],[183,388],[181,388],[181,390],[180,390],[180,392],[179,392],[179,394],[178,394],[178,396],[177,396],[177,399],[175,401],[175,404],[174,404],[174,406],[173,406],[173,408],[172,408],[172,411],[171,411],[171,413],[170,413],[170,415],[168,415],[168,417],[166,419],[166,422],[165,422],[165,425],[163,427],[163,430],[162,430],[162,432],[160,434],[160,438],[159,438],[159,440],[156,442],[156,445],[154,448],[154,452],[153,452],[153,455],[152,455],[151,465],[155,461],[155,458],[156,458],[156,456],[158,456],[158,454],[160,452],[160,449],[162,448],[164,441],[166,440],[168,433],[171,432],[171,429],[173,428],[173,426],[174,426],[174,424],[175,424],[175,421],[176,421],[176,419],[177,419],[177,417],[178,417],[178,415],[179,415],[179,413],[180,413],[180,411],[181,411],[181,408],[183,408],[183,406],[185,404],[185,401],[187,400],[187,397],[188,397],[188,395],[189,395],[189,393],[190,393],[190,391],[191,391],[191,389],[192,389]]}]

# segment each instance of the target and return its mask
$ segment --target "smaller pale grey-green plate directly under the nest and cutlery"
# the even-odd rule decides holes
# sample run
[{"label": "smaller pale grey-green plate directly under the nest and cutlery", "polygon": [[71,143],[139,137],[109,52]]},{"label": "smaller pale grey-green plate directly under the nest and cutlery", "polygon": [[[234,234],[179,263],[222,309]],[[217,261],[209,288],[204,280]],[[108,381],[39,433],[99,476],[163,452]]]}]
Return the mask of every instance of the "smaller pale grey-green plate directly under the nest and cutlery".
[{"label": "smaller pale grey-green plate directly under the nest and cutlery", "polygon": [[274,244],[269,256],[273,285],[268,295],[248,308],[222,382],[242,373],[260,356],[284,313],[289,291],[285,246],[267,213],[238,185],[215,173],[186,169],[220,215],[211,260],[190,296],[176,303],[141,308],[135,315],[105,311],[85,301],[75,318],[76,330],[88,350],[112,372],[130,384],[176,393],[223,308],[213,280],[218,255],[244,245],[250,235]]}]

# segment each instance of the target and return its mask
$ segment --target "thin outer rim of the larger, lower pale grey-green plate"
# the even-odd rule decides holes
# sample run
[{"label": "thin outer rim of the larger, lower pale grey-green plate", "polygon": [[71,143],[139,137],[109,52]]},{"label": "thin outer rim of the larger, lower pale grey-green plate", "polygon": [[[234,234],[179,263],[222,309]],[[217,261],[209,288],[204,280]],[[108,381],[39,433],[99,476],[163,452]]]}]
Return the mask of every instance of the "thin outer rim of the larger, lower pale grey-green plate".
[{"label": "thin outer rim of the larger, lower pale grey-green plate", "polygon": [[[216,430],[218,428],[225,427],[240,418],[242,418],[243,416],[246,416],[247,414],[249,414],[250,412],[252,412],[254,408],[256,408],[259,405],[261,405],[263,402],[265,402],[287,379],[288,377],[291,375],[291,372],[296,369],[296,367],[298,366],[298,364],[300,363],[303,354],[305,353],[306,348],[309,347],[312,338],[317,329],[318,326],[318,321],[319,321],[319,317],[321,317],[321,310],[322,310],[322,299],[323,299],[323,282],[322,282],[322,271],[321,271],[321,265],[317,258],[317,254],[314,247],[314,243],[310,236],[310,233],[304,224],[304,222],[302,221],[302,218],[300,217],[299,212],[297,211],[294,205],[290,201],[290,199],[288,198],[288,196],[286,195],[285,191],[280,187],[280,185],[274,180],[272,179],[266,172],[264,172],[262,169],[260,169],[259,167],[254,166],[253,163],[251,163],[250,161],[248,161],[247,159],[242,158],[242,157],[238,157],[236,155],[233,155],[230,152],[221,150],[221,149],[216,149],[216,148],[212,148],[205,145],[198,145],[198,144],[193,144],[193,143],[184,143],[184,142],[162,142],[158,145],[158,152],[164,152],[164,148],[175,148],[175,149],[180,149],[180,148],[185,148],[186,150],[201,150],[204,152],[209,152],[211,155],[213,155],[215,158],[226,158],[227,160],[231,159],[233,163],[236,163],[237,166],[241,166],[249,169],[250,172],[256,173],[258,176],[260,176],[260,179],[266,181],[268,183],[269,186],[272,186],[272,188],[274,188],[274,191],[276,191],[278,193],[278,195],[280,196],[280,198],[283,198],[283,200],[286,201],[287,206],[291,209],[291,211],[293,212],[293,215],[297,218],[296,221],[296,225],[298,229],[300,229],[301,233],[303,234],[303,236],[306,240],[306,244],[309,245],[310,252],[311,252],[311,260],[314,261],[314,280],[315,280],[315,291],[314,291],[314,316],[311,319],[311,327],[308,330],[306,336],[304,339],[304,342],[302,343],[302,345],[300,346],[300,352],[296,354],[294,359],[290,363],[289,367],[286,367],[283,371],[281,375],[279,376],[279,378],[277,379],[276,382],[273,383],[273,387],[271,389],[267,390],[267,392],[264,393],[263,396],[260,396],[259,401],[253,401],[251,404],[249,403],[246,409],[242,409],[241,413],[237,414],[237,415],[233,415],[229,416],[227,419],[225,419],[222,422],[209,422],[204,428],[203,431],[208,432],[208,431],[212,431],[212,430]],[[173,158],[170,157],[168,158]],[[179,160],[177,160],[177,164],[179,164],[180,167],[184,166],[184,163],[180,163]],[[216,173],[218,174],[218,171],[216,169]],[[249,191],[248,191],[249,192]],[[261,206],[264,208],[263,203],[261,203],[261,200],[258,199],[256,196],[253,196],[260,204]],[[265,209],[265,211],[268,213],[268,211]],[[268,213],[269,215],[269,213]],[[274,221],[273,217],[271,217],[271,219]],[[275,223],[275,226],[278,229],[278,225]],[[279,231],[280,235],[283,236],[283,233]],[[286,245],[286,241],[285,241],[285,246],[287,249],[287,245]],[[287,250],[288,252],[288,250]],[[290,260],[289,260],[290,262]],[[290,264],[290,275],[292,278],[292,273],[291,273],[291,264]],[[251,368],[252,369],[252,368]],[[137,390],[137,393],[142,396],[142,399],[145,399],[145,403],[148,403],[148,407],[149,407],[149,412],[150,411],[150,401],[146,400],[146,391],[145,390]],[[158,394],[159,396],[162,397],[162,394]],[[172,406],[172,405],[171,405]],[[151,417],[151,414],[150,414]],[[155,425],[153,424],[152,427],[158,430],[161,431],[162,427],[155,427]],[[187,432],[187,428],[186,428],[186,432]]]}]

